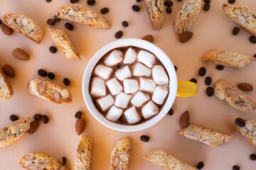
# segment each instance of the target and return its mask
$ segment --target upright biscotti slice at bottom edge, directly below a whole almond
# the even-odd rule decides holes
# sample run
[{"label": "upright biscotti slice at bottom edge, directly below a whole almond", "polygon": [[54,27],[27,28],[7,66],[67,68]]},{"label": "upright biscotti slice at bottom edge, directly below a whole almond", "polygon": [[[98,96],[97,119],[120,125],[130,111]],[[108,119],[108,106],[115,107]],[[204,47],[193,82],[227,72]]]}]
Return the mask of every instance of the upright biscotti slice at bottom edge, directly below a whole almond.
[{"label": "upright biscotti slice at bottom edge, directly below a whole almond", "polygon": [[85,135],[78,145],[77,154],[75,156],[75,170],[90,170],[90,162],[92,159],[92,140]]}]

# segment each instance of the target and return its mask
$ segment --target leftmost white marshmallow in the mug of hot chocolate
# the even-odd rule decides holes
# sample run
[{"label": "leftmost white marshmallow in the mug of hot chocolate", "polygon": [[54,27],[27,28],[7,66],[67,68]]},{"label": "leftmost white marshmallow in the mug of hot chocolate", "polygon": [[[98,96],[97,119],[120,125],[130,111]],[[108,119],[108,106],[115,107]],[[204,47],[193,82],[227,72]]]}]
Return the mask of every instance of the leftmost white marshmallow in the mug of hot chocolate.
[{"label": "leftmost white marshmallow in the mug of hot chocolate", "polygon": [[94,97],[106,96],[106,86],[103,79],[94,77],[92,79],[90,94]]}]

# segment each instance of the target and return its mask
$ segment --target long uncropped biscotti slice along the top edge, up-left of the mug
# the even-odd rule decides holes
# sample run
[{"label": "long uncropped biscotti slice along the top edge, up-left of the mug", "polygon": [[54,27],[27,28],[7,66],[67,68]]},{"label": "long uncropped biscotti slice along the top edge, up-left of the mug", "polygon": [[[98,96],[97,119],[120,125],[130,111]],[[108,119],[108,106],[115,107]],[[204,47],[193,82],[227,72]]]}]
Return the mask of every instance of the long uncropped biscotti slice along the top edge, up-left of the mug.
[{"label": "long uncropped biscotti slice along the top edge, up-left of the mug", "polygon": [[95,28],[110,29],[110,22],[103,16],[80,4],[60,6],[57,17]]}]

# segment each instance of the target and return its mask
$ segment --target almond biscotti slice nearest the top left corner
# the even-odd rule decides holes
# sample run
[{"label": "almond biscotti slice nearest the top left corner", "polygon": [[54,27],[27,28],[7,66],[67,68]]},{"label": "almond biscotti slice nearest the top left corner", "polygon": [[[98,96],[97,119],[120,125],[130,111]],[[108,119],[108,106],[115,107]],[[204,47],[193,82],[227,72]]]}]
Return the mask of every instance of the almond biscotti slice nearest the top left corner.
[{"label": "almond biscotti slice nearest the top left corner", "polygon": [[2,20],[6,26],[22,33],[36,43],[40,43],[43,39],[43,29],[35,21],[23,14],[8,13],[2,17]]}]

